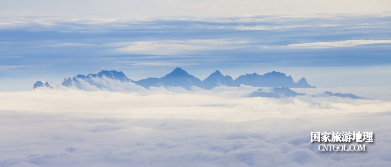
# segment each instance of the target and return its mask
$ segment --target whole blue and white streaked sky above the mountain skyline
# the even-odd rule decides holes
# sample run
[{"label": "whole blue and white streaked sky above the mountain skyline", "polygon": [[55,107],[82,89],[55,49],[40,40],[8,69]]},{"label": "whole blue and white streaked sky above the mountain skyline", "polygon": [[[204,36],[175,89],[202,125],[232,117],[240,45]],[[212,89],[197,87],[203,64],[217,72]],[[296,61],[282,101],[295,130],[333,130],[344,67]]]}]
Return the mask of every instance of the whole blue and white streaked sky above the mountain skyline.
[{"label": "whole blue and white streaked sky above the mountain skyline", "polygon": [[391,83],[388,0],[0,0],[0,91],[77,74],[278,71],[330,87]]}]

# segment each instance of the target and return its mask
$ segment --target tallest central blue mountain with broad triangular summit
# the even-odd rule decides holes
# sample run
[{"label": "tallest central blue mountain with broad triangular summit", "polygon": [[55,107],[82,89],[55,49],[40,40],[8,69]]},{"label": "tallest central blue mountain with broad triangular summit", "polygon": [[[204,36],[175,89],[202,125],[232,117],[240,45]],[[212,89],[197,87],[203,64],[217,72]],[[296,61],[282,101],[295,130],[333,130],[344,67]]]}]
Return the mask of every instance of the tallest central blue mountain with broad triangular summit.
[{"label": "tallest central blue mountain with broad triangular summit", "polygon": [[175,68],[170,74],[161,78],[141,79],[139,81],[134,81],[134,83],[143,86],[144,88],[149,88],[150,86],[173,86],[183,87],[185,89],[190,89],[192,86],[202,87],[202,81],[200,79],[188,74],[181,68]]}]

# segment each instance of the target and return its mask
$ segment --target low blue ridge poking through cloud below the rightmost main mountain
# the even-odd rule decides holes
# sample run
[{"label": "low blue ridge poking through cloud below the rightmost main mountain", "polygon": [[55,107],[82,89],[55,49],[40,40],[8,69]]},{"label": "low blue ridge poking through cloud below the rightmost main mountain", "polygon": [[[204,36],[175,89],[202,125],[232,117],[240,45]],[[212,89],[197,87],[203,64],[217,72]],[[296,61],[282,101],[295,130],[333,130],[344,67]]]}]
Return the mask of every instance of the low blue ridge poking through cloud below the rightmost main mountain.
[{"label": "low blue ridge poking through cloud below the rightmost main mountain", "polygon": [[305,95],[304,93],[296,93],[295,91],[290,90],[289,88],[272,88],[265,89],[261,88],[250,94],[250,97],[274,97],[274,98],[284,98],[284,97],[295,97],[299,95]]}]

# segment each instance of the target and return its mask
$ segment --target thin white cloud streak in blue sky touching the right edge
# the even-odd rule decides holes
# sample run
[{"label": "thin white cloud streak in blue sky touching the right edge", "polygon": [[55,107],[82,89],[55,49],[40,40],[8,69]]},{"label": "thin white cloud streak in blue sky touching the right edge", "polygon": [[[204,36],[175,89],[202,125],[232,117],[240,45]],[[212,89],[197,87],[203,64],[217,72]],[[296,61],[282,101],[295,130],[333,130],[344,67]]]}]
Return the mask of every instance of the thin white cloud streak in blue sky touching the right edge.
[{"label": "thin white cloud streak in blue sky touching the right edge", "polygon": [[331,48],[331,47],[352,47],[359,45],[370,44],[388,44],[391,43],[391,39],[386,40],[344,40],[336,42],[310,42],[310,43],[296,43],[289,44],[288,47],[308,47],[308,48]]}]

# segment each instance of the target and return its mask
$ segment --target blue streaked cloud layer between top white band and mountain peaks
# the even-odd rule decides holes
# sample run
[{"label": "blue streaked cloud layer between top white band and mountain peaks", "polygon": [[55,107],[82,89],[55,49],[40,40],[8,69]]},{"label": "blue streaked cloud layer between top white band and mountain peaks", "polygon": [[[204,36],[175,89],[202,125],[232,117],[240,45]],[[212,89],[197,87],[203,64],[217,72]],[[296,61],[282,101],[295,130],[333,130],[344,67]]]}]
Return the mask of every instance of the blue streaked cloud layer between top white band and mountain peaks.
[{"label": "blue streaked cloud layer between top white band and mountain peaks", "polygon": [[[3,16],[0,90],[30,90],[26,81],[18,80],[27,77],[30,83],[61,82],[60,76],[109,69],[138,80],[164,76],[175,67],[201,79],[216,70],[237,77],[271,71],[292,74],[295,68],[296,76],[320,78],[311,79],[318,87],[389,86],[389,77],[383,75],[390,75],[390,23],[388,15],[333,14],[153,19]],[[361,76],[352,78],[353,73]]]}]

